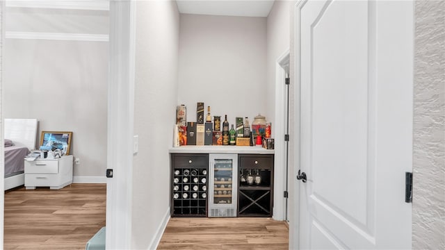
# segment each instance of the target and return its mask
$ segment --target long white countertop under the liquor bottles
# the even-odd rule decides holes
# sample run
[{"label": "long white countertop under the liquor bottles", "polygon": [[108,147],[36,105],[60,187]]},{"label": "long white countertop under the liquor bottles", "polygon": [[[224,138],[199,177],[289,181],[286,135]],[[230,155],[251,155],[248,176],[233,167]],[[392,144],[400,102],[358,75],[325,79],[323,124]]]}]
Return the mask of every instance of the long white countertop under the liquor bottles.
[{"label": "long white countertop under the liquor bottles", "polygon": [[257,146],[181,146],[170,147],[168,153],[259,153],[274,154],[274,149],[264,149]]}]

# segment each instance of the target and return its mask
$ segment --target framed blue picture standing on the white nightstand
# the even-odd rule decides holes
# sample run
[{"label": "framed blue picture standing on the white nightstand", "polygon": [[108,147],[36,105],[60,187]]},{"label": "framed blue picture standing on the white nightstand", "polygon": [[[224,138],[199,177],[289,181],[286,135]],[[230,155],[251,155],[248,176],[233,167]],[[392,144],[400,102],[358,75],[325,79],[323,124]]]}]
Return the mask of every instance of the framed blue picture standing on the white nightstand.
[{"label": "framed blue picture standing on the white nightstand", "polygon": [[56,132],[56,131],[42,131],[40,135],[40,147],[47,149],[60,149],[63,154],[70,154],[72,132]]}]

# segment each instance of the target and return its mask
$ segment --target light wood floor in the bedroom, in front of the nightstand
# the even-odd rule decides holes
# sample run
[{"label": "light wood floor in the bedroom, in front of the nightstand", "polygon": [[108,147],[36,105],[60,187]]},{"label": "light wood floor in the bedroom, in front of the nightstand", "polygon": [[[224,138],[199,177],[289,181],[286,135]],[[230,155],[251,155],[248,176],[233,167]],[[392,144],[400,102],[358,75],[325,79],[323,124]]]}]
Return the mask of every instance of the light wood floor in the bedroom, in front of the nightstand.
[{"label": "light wood floor in the bedroom, in front of the nightstand", "polygon": [[106,184],[6,191],[4,249],[85,249],[105,212]]}]

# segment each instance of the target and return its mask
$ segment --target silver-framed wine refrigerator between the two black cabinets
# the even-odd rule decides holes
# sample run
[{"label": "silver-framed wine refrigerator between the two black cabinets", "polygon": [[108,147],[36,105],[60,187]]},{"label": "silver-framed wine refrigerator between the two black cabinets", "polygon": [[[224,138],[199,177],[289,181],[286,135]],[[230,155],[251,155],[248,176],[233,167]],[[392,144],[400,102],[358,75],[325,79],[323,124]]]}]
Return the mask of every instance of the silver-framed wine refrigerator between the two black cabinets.
[{"label": "silver-framed wine refrigerator between the two black cabinets", "polygon": [[236,217],[238,156],[209,154],[209,217]]}]

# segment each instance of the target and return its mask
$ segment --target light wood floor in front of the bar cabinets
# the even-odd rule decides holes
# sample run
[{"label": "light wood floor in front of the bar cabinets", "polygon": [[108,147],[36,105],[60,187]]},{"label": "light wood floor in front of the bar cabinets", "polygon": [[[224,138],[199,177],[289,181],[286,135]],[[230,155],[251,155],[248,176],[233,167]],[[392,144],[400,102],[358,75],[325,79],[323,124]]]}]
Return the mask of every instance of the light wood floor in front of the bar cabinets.
[{"label": "light wood floor in front of the bar cabinets", "polygon": [[285,222],[270,218],[171,218],[158,249],[289,249]]}]

